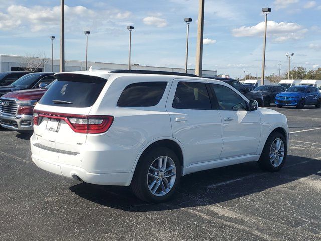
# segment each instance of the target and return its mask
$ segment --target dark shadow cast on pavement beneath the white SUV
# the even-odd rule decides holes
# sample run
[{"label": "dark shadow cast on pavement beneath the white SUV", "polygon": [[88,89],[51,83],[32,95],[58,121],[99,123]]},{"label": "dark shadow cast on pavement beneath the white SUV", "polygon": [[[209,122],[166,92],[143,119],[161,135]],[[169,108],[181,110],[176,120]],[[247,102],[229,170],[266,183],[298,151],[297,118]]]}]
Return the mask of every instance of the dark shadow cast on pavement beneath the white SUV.
[{"label": "dark shadow cast on pavement beneath the white SUV", "polygon": [[[146,204],[134,196],[130,187],[81,183],[69,189],[76,195],[103,206],[130,212],[148,212],[225,202],[313,174],[321,176],[321,173],[318,173],[320,170],[320,160],[290,155],[283,169],[277,173],[262,172],[253,162],[211,169],[182,177],[174,198],[165,204]],[[245,176],[250,177],[242,179]],[[235,179],[240,180],[233,181]],[[230,183],[208,187],[231,180]]]}]

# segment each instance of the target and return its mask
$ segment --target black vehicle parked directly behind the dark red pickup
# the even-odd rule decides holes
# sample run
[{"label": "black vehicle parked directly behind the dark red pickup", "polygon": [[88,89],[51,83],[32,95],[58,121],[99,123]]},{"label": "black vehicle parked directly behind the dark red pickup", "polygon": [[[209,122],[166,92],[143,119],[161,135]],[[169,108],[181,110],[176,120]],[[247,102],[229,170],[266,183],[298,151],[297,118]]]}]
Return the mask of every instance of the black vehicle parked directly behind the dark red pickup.
[{"label": "black vehicle parked directly behind the dark red pickup", "polygon": [[40,84],[42,85],[41,87],[45,87],[46,84],[50,84],[55,80],[53,75],[54,73],[43,72],[26,74],[8,86],[0,86],[0,96],[11,91],[38,89]]}]

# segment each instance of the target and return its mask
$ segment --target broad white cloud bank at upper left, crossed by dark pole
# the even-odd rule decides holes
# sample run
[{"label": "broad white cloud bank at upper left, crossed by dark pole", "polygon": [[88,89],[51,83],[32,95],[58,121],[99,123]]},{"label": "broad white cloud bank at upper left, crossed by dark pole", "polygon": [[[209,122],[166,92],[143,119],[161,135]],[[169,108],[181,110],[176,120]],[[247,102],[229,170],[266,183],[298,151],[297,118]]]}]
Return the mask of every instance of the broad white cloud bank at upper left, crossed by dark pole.
[{"label": "broad white cloud bank at upper left, crossed by dark pole", "polygon": [[[86,18],[84,18],[86,16]],[[92,10],[84,6],[69,7],[65,5],[66,30],[76,28],[106,28],[108,21],[116,23],[117,19],[127,19],[131,16],[129,11],[113,10]],[[0,11],[0,29],[15,30],[21,28],[31,32],[53,31],[59,28],[60,6],[45,7],[23,5],[10,5],[6,10]],[[117,22],[117,24],[120,24]],[[109,23],[109,25],[111,25]]]}]

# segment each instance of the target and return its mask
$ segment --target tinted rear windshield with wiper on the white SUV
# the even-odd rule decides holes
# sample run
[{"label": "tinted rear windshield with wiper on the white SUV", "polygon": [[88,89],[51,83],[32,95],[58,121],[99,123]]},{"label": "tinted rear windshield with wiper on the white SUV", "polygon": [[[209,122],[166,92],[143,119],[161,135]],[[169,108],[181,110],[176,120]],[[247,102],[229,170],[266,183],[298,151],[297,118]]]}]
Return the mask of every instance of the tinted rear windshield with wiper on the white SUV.
[{"label": "tinted rear windshield with wiper on the white SUV", "polygon": [[[99,77],[73,75],[57,76],[39,103],[44,105],[85,108],[92,106],[107,80]],[[60,78],[60,79],[59,79]]]}]

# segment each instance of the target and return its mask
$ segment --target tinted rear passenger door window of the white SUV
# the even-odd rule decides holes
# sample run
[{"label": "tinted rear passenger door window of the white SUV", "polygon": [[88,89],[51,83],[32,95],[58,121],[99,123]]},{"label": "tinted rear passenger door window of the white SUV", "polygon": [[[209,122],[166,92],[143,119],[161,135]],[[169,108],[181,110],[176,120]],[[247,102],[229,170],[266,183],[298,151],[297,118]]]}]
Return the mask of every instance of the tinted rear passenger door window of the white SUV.
[{"label": "tinted rear passenger door window of the white SUV", "polygon": [[211,109],[205,83],[179,82],[172,107],[175,109]]}]

